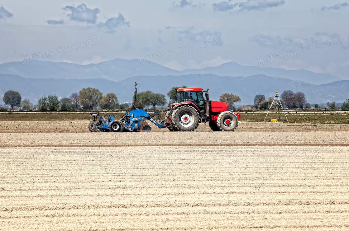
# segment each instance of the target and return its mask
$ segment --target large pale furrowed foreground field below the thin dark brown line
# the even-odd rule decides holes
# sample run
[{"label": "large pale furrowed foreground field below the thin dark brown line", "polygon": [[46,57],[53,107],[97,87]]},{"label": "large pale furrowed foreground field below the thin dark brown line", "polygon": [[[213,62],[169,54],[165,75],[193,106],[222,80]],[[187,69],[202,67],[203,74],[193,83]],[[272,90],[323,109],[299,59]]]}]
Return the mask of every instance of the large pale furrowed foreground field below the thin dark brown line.
[{"label": "large pale furrowed foreground field below the thin dark brown line", "polygon": [[348,150],[0,148],[0,229],[347,230]]}]

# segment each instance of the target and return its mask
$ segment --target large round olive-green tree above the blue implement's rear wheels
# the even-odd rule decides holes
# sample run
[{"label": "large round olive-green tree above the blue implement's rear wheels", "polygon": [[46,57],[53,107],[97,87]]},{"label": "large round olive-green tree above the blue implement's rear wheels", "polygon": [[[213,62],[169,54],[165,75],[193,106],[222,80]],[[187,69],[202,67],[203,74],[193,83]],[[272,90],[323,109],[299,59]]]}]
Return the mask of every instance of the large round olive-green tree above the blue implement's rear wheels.
[{"label": "large round olive-green tree above the blue implement's rear wheels", "polygon": [[96,88],[83,88],[79,91],[79,104],[83,109],[93,109],[94,106],[98,105],[102,97],[102,92]]}]

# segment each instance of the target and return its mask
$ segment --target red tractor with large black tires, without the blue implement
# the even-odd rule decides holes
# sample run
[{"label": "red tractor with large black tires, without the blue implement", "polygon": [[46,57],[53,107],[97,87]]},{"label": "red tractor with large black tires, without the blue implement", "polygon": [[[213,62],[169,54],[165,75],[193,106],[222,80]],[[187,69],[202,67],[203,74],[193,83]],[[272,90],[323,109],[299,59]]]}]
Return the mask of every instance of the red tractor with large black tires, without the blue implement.
[{"label": "red tractor with large black tires, without the blue implement", "polygon": [[[170,131],[194,131],[200,123],[206,122],[213,131],[234,131],[238,126],[240,113],[233,112],[229,103],[209,100],[208,89],[175,89],[178,92],[177,103],[168,107],[164,120]],[[203,92],[206,92],[206,100]]]}]

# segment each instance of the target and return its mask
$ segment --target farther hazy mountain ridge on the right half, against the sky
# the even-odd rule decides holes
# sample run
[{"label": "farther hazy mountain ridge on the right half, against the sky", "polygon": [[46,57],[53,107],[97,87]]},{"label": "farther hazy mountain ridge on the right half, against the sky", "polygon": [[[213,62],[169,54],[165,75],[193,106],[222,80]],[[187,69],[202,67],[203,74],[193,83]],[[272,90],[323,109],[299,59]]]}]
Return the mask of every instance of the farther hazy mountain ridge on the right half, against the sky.
[{"label": "farther hazy mountain ridge on the right half, against the sky", "polygon": [[334,81],[339,81],[336,76],[330,74],[314,73],[309,70],[285,70],[282,68],[273,67],[257,67],[257,66],[242,66],[236,62],[227,62],[218,67],[206,67],[202,69],[187,69],[181,72],[181,75],[188,74],[215,74],[220,76],[252,76],[252,75],[267,75],[273,77],[281,77],[284,79],[303,81],[311,84],[325,84]]}]

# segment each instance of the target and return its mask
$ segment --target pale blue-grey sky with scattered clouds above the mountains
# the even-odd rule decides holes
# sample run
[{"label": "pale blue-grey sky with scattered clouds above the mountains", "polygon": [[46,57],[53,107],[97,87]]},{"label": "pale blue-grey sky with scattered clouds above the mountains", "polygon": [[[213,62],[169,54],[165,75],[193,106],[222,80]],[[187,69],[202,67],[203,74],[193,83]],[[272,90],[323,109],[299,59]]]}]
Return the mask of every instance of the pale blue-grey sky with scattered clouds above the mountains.
[{"label": "pale blue-grey sky with scattered clouds above the mountains", "polygon": [[347,79],[348,13],[343,0],[2,0],[0,63],[42,52],[76,64],[148,57],[183,70],[232,61]]}]

